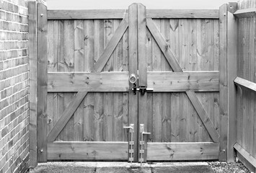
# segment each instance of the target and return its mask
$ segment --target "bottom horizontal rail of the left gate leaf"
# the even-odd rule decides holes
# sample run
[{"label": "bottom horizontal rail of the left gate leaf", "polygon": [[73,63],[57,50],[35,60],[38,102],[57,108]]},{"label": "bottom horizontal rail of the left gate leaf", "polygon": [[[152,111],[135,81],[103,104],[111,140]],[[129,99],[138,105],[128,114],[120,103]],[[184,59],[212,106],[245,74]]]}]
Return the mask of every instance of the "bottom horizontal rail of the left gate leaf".
[{"label": "bottom horizontal rail of the left gate leaf", "polygon": [[48,160],[127,160],[127,142],[48,143]]}]

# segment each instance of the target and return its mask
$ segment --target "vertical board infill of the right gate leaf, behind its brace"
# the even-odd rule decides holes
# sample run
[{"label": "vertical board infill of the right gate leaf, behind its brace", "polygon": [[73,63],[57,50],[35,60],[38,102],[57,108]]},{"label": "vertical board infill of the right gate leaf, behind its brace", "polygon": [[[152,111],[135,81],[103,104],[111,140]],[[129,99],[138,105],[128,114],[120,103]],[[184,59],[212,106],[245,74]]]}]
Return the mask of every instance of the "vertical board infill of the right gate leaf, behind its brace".
[{"label": "vertical board infill of the right gate leaf, behind its brace", "polygon": [[[192,71],[192,73],[219,71],[219,19],[154,19],[153,21],[168,46],[172,48],[183,71]],[[154,88],[157,82],[150,81],[154,71],[165,71],[162,73],[164,74],[172,71],[172,68],[150,32],[147,32],[147,40],[148,86]],[[147,109],[152,109],[148,111],[147,122],[153,123],[152,127],[148,128],[151,133],[149,142],[211,142],[206,128],[185,93],[159,92],[162,91],[147,94]],[[210,115],[216,130],[219,131],[219,90],[196,94]]]}]

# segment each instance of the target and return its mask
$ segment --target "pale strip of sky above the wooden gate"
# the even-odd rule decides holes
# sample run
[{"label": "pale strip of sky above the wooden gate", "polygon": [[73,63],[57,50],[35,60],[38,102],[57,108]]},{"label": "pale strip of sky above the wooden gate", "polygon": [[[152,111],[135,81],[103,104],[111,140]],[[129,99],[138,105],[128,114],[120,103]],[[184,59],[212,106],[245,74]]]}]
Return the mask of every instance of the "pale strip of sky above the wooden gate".
[{"label": "pale strip of sky above the wooden gate", "polygon": [[[128,9],[141,3],[146,9],[219,9],[232,0],[47,0],[48,9]],[[234,0],[236,1],[236,0]]]}]

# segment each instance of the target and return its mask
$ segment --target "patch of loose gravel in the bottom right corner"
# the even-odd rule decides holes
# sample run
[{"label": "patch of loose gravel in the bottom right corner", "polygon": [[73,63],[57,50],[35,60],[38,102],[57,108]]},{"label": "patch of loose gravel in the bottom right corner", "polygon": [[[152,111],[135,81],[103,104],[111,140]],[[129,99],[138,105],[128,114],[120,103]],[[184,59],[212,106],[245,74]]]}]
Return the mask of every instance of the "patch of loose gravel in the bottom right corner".
[{"label": "patch of loose gravel in the bottom right corner", "polygon": [[241,162],[226,163],[226,162],[208,162],[213,169],[213,172],[225,172],[225,173],[251,173]]}]

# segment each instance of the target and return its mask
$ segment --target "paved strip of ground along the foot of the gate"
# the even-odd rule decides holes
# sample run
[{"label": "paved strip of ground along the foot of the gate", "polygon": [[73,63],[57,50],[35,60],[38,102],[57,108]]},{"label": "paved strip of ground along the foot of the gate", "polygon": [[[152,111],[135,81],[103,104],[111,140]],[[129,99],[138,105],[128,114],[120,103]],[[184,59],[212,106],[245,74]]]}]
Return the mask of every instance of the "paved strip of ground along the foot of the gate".
[{"label": "paved strip of ground along the foot of the gate", "polygon": [[125,162],[48,162],[38,164],[30,173],[213,173],[206,162],[125,163]]}]

